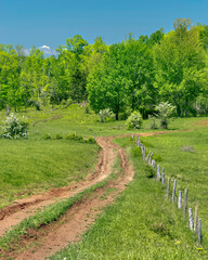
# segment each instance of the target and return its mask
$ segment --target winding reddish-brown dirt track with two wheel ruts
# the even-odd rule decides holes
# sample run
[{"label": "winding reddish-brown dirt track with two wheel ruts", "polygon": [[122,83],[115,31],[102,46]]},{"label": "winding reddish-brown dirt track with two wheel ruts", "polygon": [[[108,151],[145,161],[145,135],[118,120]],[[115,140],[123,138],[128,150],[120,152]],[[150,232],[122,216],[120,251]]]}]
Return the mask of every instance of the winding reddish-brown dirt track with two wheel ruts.
[{"label": "winding reddish-brown dirt track with two wheel ruts", "polygon": [[[167,132],[140,133],[142,136],[162,134]],[[129,136],[129,134],[122,135]],[[0,249],[4,253],[3,259],[18,260],[41,260],[54,255],[67,245],[81,239],[81,236],[98,218],[98,214],[122,192],[127,184],[133,180],[134,171],[132,165],[128,162],[125,150],[113,143],[113,139],[121,136],[98,138],[96,142],[102,147],[100,161],[94,173],[89,174],[86,180],[74,185],[61,188],[53,188],[46,194],[31,196],[30,198],[16,200],[13,205],[0,210],[0,236],[18,224],[24,219],[32,216],[55,202],[72,197],[86,188],[106,179],[113,170],[116,155],[120,158],[122,173],[118,179],[109,180],[104,187],[95,190],[92,195],[76,203],[58,220],[50,225],[43,225],[38,231],[29,230],[28,234],[22,236],[20,243],[12,247],[9,252]],[[112,192],[106,193],[106,188]],[[38,246],[35,246],[38,245]],[[20,250],[23,248],[29,248]]]}]

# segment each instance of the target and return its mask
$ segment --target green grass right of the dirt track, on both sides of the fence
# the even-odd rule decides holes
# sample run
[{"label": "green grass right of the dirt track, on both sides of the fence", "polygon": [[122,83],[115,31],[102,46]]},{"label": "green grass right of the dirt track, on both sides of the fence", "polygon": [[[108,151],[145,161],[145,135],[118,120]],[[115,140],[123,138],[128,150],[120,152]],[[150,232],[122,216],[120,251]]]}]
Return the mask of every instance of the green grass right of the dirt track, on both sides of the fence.
[{"label": "green grass right of the dirt track, on both sides of the fence", "polygon": [[[202,138],[200,142],[197,141],[198,135]],[[205,210],[208,206],[205,194],[208,194],[208,188],[206,188],[206,174],[202,174],[202,171],[204,173],[207,171],[207,161],[202,159],[205,152],[202,144],[206,139],[204,129],[188,133],[171,133],[170,136],[162,134],[143,138],[143,141],[152,146],[157,158],[160,158],[160,164],[167,171],[173,172],[172,177],[178,179],[181,187],[184,184],[190,190],[191,204],[198,200],[204,227],[207,218]],[[187,227],[183,212],[166,198],[165,187],[155,179],[147,178],[150,170],[141,157],[132,157],[132,144],[129,139],[117,140],[117,143],[127,147],[129,157],[133,160],[134,181],[116,204],[107,208],[80,243],[72,245],[52,259],[60,260],[64,257],[66,259],[207,259],[205,231],[204,244],[198,246],[196,236]],[[194,154],[190,157],[187,152],[183,152],[184,145],[193,145],[193,148],[199,153],[195,159],[195,167],[188,167],[193,162]],[[205,186],[202,186],[199,192],[199,183],[203,181],[198,181],[197,187],[196,180],[200,177],[195,178],[195,172],[198,171],[197,165],[200,164],[200,176]],[[188,169],[188,172],[185,169],[181,171],[183,168]],[[186,179],[185,176],[190,176],[188,186],[187,183],[182,183],[183,177]],[[199,193],[202,197],[194,195]]]}]

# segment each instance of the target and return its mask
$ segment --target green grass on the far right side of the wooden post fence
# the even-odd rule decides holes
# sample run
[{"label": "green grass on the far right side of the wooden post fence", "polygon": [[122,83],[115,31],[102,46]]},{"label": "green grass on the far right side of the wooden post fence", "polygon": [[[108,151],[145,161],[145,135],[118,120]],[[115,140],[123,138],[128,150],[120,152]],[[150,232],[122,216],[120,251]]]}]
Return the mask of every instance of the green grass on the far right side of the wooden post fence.
[{"label": "green grass on the far right side of the wooden post fence", "polygon": [[[176,132],[162,135],[142,138],[165,168],[167,178],[170,177],[171,188],[173,179],[178,182],[179,191],[188,190],[188,207],[193,210],[198,205],[198,214],[203,221],[203,239],[208,246],[208,132],[202,128],[192,132]],[[148,147],[151,146],[151,147]],[[153,156],[154,158],[154,156]],[[171,190],[172,191],[172,190]]]}]

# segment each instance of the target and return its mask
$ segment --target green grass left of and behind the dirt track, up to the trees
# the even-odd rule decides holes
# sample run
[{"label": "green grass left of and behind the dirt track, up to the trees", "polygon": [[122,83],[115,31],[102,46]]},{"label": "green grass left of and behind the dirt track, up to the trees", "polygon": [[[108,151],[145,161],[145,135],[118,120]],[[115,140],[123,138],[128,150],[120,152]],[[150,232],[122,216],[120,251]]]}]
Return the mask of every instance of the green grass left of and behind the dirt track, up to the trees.
[{"label": "green grass left of and behind the dirt track, up to the trees", "polygon": [[[131,131],[126,130],[125,121],[101,123],[98,115],[92,110],[87,114],[86,108],[78,104],[67,108],[43,107],[39,112],[29,108],[17,114],[29,119],[29,138],[0,139],[0,208],[16,198],[67,185],[83,178],[92,169],[99,146],[66,140],[67,135],[76,133],[89,139],[94,135],[158,131],[150,129],[148,120],[143,121],[142,129]],[[3,119],[5,112],[1,110],[0,120]],[[170,122],[169,129],[200,129],[202,125],[194,123],[204,120],[206,118],[179,118]],[[46,140],[49,134],[52,139]]]}]

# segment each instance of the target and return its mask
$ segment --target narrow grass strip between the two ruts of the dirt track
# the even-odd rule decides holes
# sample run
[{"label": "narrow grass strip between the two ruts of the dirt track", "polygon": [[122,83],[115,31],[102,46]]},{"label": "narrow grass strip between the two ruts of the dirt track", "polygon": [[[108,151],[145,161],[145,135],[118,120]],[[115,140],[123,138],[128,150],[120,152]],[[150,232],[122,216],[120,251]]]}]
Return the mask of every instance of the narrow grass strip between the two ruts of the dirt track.
[{"label": "narrow grass strip between the two ruts of the dirt track", "polygon": [[[31,216],[25,220],[23,220],[20,224],[15,225],[11,230],[9,230],[1,238],[0,238],[0,257],[4,257],[6,251],[11,251],[12,249],[18,250],[18,243],[22,239],[22,236],[27,237],[28,231],[34,229],[38,230],[42,225],[49,225],[54,221],[58,221],[58,219],[66,213],[66,211],[77,202],[81,202],[83,198],[87,198],[89,195],[93,194],[95,190],[101,187],[105,188],[102,199],[105,199],[105,196],[112,192],[114,188],[108,188],[106,185],[109,180],[117,179],[118,176],[122,173],[120,168],[120,159],[117,156],[115,160],[115,165],[112,167],[112,173],[102,182],[99,182],[92,185],[89,188],[86,188],[83,192],[69,197],[67,199],[63,199],[61,202],[54,203],[48,207],[46,207],[40,212]],[[106,186],[106,187],[105,187]],[[21,248],[22,250],[24,248]]]}]

